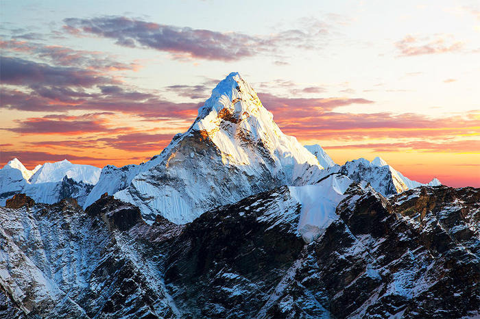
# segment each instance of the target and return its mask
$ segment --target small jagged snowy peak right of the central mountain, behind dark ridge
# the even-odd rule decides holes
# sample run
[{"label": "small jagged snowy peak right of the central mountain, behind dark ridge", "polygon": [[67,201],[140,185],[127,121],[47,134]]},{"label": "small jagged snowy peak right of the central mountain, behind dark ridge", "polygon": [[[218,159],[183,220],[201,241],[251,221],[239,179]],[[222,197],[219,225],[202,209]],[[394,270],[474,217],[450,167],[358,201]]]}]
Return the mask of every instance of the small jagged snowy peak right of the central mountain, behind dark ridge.
[{"label": "small jagged snowy peak right of the central mountain, behind dark ridge", "polygon": [[361,183],[361,185],[370,183],[372,188],[383,196],[398,194],[420,186],[442,185],[436,178],[428,184],[411,181],[398,172],[398,170],[389,166],[381,157],[375,157],[372,162],[368,162],[364,158],[346,162],[344,166],[341,166],[340,172],[348,176],[352,181]]}]

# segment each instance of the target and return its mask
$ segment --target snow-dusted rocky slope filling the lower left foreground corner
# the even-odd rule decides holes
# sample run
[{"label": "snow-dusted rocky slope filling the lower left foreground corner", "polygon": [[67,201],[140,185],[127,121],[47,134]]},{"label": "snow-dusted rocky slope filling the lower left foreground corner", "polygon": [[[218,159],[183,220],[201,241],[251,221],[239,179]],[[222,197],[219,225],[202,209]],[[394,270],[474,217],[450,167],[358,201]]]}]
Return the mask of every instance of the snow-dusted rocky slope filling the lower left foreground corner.
[{"label": "snow-dusted rocky slope filling the lower left foreground corner", "polygon": [[[104,199],[108,201],[109,199]],[[117,209],[117,201],[107,203]],[[136,209],[138,213],[138,209]],[[86,214],[74,201],[29,209],[0,207],[0,314],[27,318],[169,318],[158,261],[112,218]],[[130,219],[129,219],[130,221]],[[143,227],[137,222],[133,228]],[[134,233],[133,229],[130,229]],[[8,299],[5,299],[8,301]],[[1,307],[1,306],[0,306]]]}]

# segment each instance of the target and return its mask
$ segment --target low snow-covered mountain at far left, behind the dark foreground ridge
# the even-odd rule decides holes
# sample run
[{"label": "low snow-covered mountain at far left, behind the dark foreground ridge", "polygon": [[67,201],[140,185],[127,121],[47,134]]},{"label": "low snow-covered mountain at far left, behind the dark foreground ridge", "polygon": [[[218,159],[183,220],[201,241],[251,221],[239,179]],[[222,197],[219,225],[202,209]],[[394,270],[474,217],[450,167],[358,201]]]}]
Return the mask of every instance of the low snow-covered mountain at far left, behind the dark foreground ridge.
[{"label": "low snow-covered mountain at far left, behind the dark foreground ridge", "polygon": [[38,165],[27,170],[19,159],[12,159],[0,169],[0,205],[14,194],[24,193],[38,203],[56,203],[74,198],[81,204],[97,183],[100,168],[62,162]]}]

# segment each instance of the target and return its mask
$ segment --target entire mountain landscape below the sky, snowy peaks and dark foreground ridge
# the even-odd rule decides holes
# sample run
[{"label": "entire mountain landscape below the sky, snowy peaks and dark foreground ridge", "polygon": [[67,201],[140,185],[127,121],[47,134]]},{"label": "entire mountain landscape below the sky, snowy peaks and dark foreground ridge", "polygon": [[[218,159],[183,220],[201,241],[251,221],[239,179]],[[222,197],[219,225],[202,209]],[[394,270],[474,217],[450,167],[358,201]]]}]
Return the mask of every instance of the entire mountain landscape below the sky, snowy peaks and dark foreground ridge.
[{"label": "entire mountain landscape below the sky, snowy peaks and dark foreground ridge", "polygon": [[340,166],[230,73],[148,162],[0,170],[0,318],[480,316],[480,189]]}]

